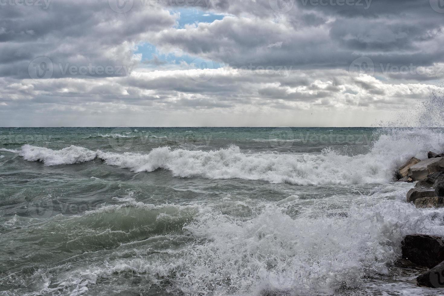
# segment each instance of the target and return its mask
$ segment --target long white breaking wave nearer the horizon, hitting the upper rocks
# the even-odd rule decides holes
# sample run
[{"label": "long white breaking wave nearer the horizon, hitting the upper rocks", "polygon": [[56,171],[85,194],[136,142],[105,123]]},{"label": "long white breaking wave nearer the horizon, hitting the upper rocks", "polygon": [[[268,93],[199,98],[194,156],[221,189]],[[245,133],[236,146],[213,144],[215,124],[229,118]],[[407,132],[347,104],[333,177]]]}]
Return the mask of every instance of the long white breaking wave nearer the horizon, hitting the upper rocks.
[{"label": "long white breaking wave nearer the horizon, hitting the upper rocks", "polygon": [[441,152],[444,134],[432,129],[381,130],[368,154],[341,155],[324,149],[321,154],[243,153],[239,147],[212,151],[172,150],[159,147],[149,154],[114,153],[70,146],[51,150],[22,146],[20,156],[46,166],[102,159],[107,165],[135,172],[169,170],[173,176],[210,179],[240,178],[297,185],[384,183],[406,159],[423,158],[428,150]]}]

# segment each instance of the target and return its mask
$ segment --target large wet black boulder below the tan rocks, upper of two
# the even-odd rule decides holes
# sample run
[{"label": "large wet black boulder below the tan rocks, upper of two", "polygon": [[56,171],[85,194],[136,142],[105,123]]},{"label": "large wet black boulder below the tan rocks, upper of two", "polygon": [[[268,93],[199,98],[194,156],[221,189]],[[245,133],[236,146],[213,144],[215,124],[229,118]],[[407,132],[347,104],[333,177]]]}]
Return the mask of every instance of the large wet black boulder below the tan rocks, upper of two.
[{"label": "large wet black boulder below the tan rocks, upper of two", "polygon": [[432,268],[444,261],[444,240],[425,234],[412,234],[401,242],[402,258]]}]

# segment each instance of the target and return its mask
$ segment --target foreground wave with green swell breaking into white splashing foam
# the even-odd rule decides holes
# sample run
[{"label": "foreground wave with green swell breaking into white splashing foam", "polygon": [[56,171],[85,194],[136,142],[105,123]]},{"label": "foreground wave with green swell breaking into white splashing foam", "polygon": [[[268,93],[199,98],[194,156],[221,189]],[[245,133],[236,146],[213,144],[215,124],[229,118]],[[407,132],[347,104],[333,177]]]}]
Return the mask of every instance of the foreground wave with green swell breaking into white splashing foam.
[{"label": "foreground wave with green swell breaking into white splashing foam", "polygon": [[[407,189],[392,189],[374,193],[375,205],[351,205],[345,216],[291,217],[285,204],[294,205],[294,198],[246,205],[257,213],[248,220],[210,206],[142,202],[59,215],[36,227],[28,240],[68,240],[66,248],[81,248],[82,255],[41,268],[35,278],[43,281],[40,293],[57,295],[80,295],[100,280],[124,283],[135,276],[147,281],[145,287],[167,279],[173,294],[334,295],[342,287],[362,287],[369,277],[389,274],[404,235],[444,235],[444,212],[416,209],[404,202]],[[54,225],[57,237],[48,230]],[[174,240],[180,242],[171,247]],[[85,257],[85,246],[94,258]],[[116,248],[111,253],[97,251],[111,246]]]}]

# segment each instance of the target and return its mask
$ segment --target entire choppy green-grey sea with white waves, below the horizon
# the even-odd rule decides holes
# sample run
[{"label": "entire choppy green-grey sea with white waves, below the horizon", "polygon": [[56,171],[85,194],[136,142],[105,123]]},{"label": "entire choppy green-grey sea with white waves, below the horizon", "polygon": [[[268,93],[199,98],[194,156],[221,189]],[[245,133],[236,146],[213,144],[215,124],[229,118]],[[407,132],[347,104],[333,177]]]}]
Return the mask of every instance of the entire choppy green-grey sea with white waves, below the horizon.
[{"label": "entire choppy green-grey sea with white waves, below the horizon", "polygon": [[1,128],[1,295],[440,295],[401,268],[440,129]]}]

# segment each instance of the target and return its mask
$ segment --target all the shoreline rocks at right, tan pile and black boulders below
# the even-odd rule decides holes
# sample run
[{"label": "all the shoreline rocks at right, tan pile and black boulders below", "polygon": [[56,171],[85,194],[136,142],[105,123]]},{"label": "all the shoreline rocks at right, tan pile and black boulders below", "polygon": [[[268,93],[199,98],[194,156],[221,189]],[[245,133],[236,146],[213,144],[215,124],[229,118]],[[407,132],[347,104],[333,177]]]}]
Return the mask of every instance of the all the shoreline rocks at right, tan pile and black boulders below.
[{"label": "all the shoreline rocks at right, tan pile and black boulders below", "polygon": [[[407,193],[407,202],[416,208],[444,207],[444,153],[432,151],[428,159],[410,158],[396,171],[398,182],[416,182]],[[425,234],[404,237],[402,258],[412,264],[430,268],[416,278],[416,284],[428,288],[444,288],[444,238]]]}]

